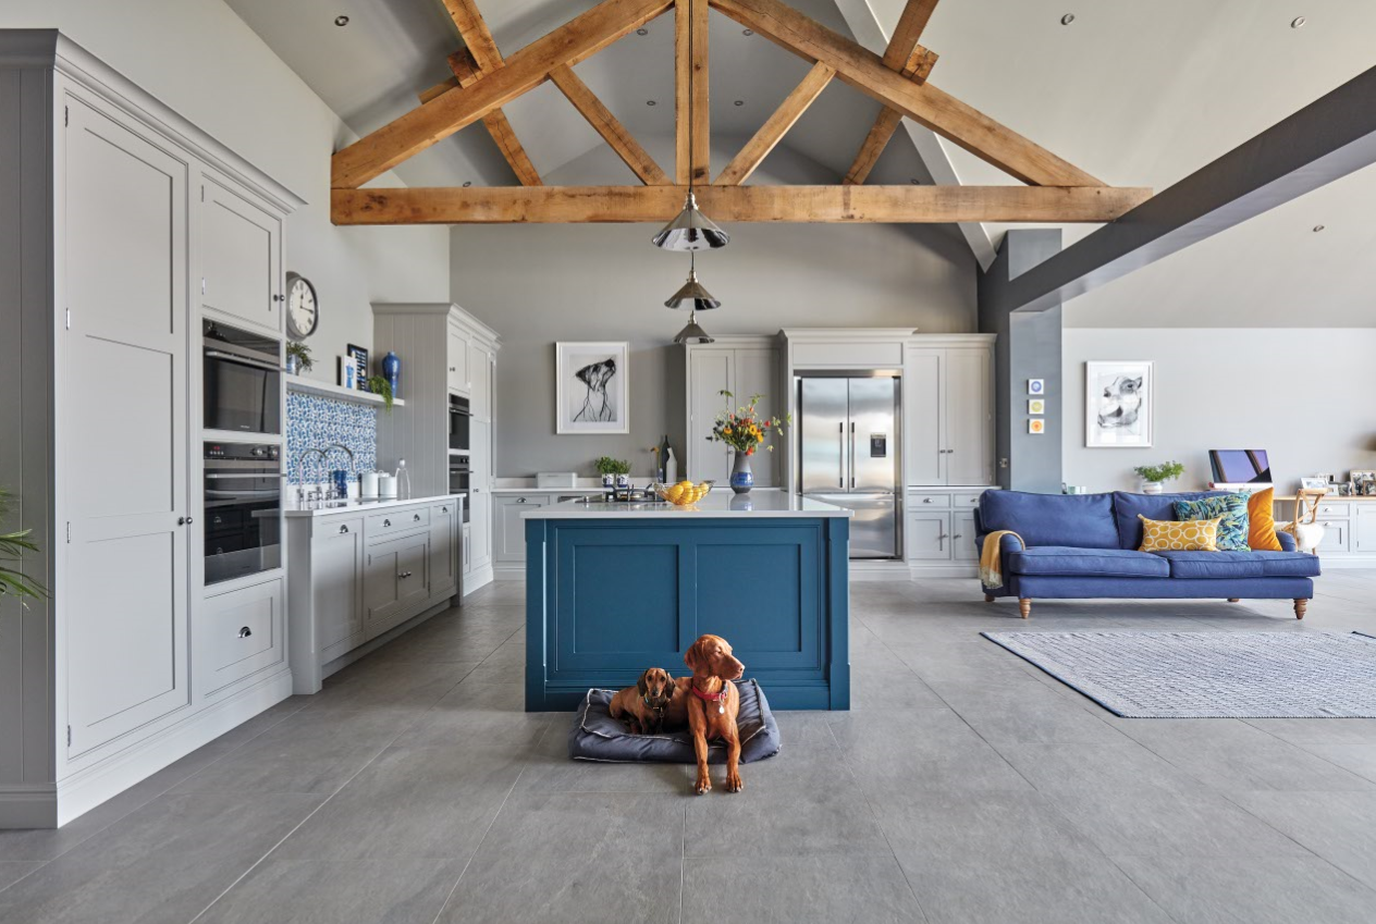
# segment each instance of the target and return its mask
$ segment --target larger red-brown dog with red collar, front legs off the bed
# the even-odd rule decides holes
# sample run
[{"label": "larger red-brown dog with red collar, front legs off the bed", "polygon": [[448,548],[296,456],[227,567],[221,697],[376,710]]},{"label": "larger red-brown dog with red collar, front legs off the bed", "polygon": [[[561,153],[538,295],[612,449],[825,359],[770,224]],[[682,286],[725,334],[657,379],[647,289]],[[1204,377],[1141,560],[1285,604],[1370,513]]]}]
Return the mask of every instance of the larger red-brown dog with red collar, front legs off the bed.
[{"label": "larger red-brown dog with red collar, front legs off the bed", "polygon": [[684,654],[684,663],[692,668],[692,676],[684,678],[680,685],[687,688],[681,701],[687,705],[692,747],[698,755],[698,795],[711,789],[707,774],[710,738],[727,742],[727,792],[740,792],[746,788],[740,781],[740,733],[736,729],[740,692],[732,681],[740,679],[746,666],[736,660],[731,645],[720,635],[703,635],[694,642]]}]

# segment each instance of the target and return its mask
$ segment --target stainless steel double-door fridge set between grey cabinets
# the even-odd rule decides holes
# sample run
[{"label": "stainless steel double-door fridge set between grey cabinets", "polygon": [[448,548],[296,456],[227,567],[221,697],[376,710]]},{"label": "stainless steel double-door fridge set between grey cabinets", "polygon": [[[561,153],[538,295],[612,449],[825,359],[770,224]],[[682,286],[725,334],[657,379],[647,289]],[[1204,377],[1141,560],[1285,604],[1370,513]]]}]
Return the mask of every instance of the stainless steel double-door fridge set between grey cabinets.
[{"label": "stainless steel double-door fridge set between grey cabinets", "polygon": [[798,380],[799,491],[854,510],[852,558],[901,554],[899,396],[897,375]]}]

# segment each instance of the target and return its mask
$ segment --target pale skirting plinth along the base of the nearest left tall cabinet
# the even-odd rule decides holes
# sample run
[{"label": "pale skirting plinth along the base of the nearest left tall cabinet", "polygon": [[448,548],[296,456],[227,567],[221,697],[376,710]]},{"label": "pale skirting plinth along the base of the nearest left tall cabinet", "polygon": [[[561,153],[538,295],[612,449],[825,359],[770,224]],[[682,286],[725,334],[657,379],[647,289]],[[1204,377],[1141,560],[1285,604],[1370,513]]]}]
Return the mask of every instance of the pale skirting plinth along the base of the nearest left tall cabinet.
[{"label": "pale skirting plinth along the base of the nearest left tall cabinet", "polygon": [[0,829],[52,828],[54,820],[62,826],[289,696],[292,672],[282,670],[127,751],[59,780],[55,788],[47,786],[44,792],[3,789]]}]

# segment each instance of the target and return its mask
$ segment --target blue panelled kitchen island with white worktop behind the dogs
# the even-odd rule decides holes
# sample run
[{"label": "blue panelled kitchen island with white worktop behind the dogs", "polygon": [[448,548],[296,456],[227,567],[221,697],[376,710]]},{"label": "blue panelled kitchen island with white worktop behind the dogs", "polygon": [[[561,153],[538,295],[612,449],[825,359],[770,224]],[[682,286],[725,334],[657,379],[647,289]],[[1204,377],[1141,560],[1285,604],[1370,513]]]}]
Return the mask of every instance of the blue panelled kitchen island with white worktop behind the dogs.
[{"label": "blue panelled kitchen island with white worktop behind the dogs", "polygon": [[850,708],[850,516],[782,491],[523,514],[526,711],[571,710],[647,667],[684,676],[705,632],[773,708]]}]

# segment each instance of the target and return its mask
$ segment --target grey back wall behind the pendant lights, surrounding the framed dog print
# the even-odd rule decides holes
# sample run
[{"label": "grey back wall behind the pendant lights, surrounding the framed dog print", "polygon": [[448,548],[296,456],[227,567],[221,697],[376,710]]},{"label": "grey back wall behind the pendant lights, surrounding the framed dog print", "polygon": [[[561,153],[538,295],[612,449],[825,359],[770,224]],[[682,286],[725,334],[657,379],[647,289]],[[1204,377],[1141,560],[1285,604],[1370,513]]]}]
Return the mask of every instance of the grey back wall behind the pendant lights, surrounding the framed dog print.
[{"label": "grey back wall behind the pendant lights, surrounding the framed dog print", "polygon": [[[776,151],[771,165],[795,166],[788,158],[790,153]],[[568,180],[556,175],[552,182]],[[663,301],[687,278],[688,256],[652,248],[656,230],[619,224],[453,230],[453,298],[502,337],[498,476],[542,470],[592,476],[599,455],[630,459],[636,476],[648,474],[648,447],[666,432],[682,455],[684,374],[670,341],[688,315]],[[775,333],[784,326],[974,330],[976,264],[952,228],[738,224],[729,231],[729,248],[698,260],[702,283],[722,301],[698,318],[709,333]],[[555,433],[553,345],[560,340],[630,341],[629,436]]]}]

